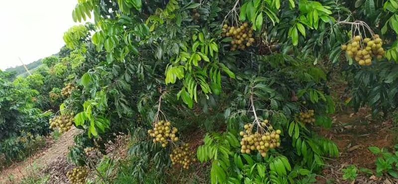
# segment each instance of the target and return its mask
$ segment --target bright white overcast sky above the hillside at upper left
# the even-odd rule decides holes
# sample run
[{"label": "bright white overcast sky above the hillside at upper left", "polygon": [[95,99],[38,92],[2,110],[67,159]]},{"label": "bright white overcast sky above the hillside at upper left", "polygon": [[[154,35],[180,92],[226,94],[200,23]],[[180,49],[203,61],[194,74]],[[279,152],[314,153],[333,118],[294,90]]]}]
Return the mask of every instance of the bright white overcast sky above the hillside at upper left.
[{"label": "bright white overcast sky above the hillside at upper left", "polygon": [[0,69],[25,64],[55,54],[62,36],[75,23],[77,0],[1,0]]}]

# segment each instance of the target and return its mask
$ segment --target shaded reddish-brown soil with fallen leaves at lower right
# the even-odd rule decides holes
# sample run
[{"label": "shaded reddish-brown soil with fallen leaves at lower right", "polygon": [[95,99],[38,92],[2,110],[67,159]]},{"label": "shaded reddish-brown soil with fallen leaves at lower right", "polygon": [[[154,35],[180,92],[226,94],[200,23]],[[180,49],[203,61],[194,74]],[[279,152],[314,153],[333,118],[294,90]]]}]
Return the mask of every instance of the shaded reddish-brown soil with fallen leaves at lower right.
[{"label": "shaded reddish-brown soil with fallen leaves at lower right", "polygon": [[332,139],[339,147],[340,156],[327,162],[318,178],[319,184],[354,184],[342,180],[343,171],[349,165],[367,168],[373,173],[359,173],[355,184],[396,184],[398,181],[375,177],[377,156],[368,147],[377,146],[391,148],[397,143],[397,132],[392,120],[372,119],[369,109],[361,109],[358,113],[339,113],[334,118],[330,131],[322,130],[321,134]]}]

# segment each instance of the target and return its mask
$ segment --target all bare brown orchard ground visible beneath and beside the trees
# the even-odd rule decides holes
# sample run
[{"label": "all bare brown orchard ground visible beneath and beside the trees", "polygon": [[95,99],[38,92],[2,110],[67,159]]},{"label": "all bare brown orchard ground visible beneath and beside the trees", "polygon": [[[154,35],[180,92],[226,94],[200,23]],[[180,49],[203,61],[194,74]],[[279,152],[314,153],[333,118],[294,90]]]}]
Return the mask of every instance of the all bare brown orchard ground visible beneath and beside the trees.
[{"label": "all bare brown orchard ground visible beneath and beside the trees", "polygon": [[[368,168],[373,174],[359,173],[356,184],[391,184],[397,183],[397,180],[386,177],[375,177],[376,155],[372,154],[368,147],[377,146],[391,148],[397,142],[397,128],[391,119],[383,121],[372,119],[370,109],[361,108],[359,112],[340,112],[333,115],[333,127],[330,130],[319,129],[321,135],[330,138],[337,143],[340,156],[329,160],[322,173],[319,173],[317,180],[319,184],[350,184],[342,180],[342,169],[349,165],[355,165],[360,168]],[[33,169],[38,169],[41,177],[48,176],[48,182],[68,183],[67,178],[62,176],[73,166],[66,161],[68,147],[74,144],[73,136],[80,131],[76,128],[64,133],[57,142],[52,143],[42,152],[35,154],[24,162],[18,162],[3,170],[0,175],[1,184],[16,184],[22,179],[28,177]],[[187,142],[191,144],[191,149],[196,149],[202,144],[203,131],[197,130],[190,134]],[[113,148],[115,149],[115,148]],[[119,153],[127,153],[127,142],[118,148],[122,150]],[[119,159],[123,159],[120,157]],[[187,182],[196,180],[199,183],[208,183],[208,164],[196,163],[189,170],[173,168],[168,171],[170,177],[168,183]],[[181,171],[183,171],[181,173]],[[91,171],[94,176],[94,171]],[[37,174],[37,173],[36,173]],[[178,176],[178,177],[176,177]]]}]

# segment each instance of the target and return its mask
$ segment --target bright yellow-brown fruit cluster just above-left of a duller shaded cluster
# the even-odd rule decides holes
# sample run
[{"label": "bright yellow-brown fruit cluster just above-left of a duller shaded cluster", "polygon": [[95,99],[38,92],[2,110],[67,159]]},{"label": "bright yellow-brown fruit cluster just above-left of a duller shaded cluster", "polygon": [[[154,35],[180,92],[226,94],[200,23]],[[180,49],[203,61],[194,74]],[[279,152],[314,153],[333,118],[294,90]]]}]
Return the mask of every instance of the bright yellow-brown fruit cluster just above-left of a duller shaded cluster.
[{"label": "bright yellow-brown fruit cluster just above-left of a duller shaded cluster", "polygon": [[163,120],[155,123],[152,130],[148,130],[148,134],[153,137],[153,142],[162,143],[163,148],[169,144],[168,141],[178,141],[177,132],[178,129],[176,127],[172,128],[170,121],[165,122]]}]

